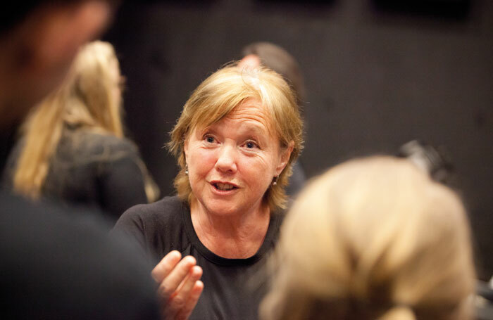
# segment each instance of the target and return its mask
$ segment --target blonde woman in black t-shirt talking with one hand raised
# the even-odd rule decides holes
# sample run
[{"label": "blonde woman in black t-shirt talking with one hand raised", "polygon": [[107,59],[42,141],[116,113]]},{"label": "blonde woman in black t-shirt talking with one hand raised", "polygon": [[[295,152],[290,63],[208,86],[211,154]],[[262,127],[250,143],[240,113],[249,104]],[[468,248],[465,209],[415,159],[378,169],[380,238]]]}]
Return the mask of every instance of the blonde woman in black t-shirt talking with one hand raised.
[{"label": "blonde woman in black t-shirt talking with one hand raised", "polygon": [[277,241],[301,144],[296,98],[272,70],[230,65],[192,93],[169,143],[177,196],[115,226],[161,260],[152,275],[166,319],[257,319],[263,288],[249,290],[249,274]]}]

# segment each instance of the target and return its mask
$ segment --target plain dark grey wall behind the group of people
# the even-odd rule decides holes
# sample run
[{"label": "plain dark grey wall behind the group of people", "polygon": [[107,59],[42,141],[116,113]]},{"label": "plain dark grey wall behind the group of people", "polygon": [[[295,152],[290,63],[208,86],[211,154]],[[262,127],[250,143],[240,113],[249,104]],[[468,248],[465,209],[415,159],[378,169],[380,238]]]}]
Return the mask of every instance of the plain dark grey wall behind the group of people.
[{"label": "plain dark grey wall behind the group of people", "polygon": [[308,177],[354,156],[394,154],[412,139],[442,146],[470,210],[480,275],[491,276],[493,1],[451,0],[466,4],[458,11],[437,1],[433,12],[375,5],[386,1],[301,2],[120,8],[106,39],[127,76],[128,132],[163,195],[173,193],[177,169],[162,146],[189,94],[240,58],[242,46],[272,41],[304,70]]}]

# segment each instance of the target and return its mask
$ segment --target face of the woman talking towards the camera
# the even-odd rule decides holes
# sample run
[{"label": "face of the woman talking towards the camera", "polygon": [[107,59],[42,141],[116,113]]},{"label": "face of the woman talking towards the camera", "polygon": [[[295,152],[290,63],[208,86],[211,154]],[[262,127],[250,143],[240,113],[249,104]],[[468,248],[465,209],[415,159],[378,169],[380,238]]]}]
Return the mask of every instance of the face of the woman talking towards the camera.
[{"label": "face of the woman talking towards the camera", "polygon": [[185,141],[189,181],[206,212],[241,215],[261,208],[290,155],[269,126],[261,103],[249,99],[219,122],[190,133]]}]

